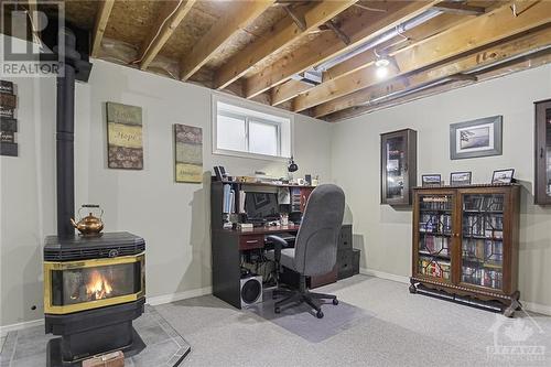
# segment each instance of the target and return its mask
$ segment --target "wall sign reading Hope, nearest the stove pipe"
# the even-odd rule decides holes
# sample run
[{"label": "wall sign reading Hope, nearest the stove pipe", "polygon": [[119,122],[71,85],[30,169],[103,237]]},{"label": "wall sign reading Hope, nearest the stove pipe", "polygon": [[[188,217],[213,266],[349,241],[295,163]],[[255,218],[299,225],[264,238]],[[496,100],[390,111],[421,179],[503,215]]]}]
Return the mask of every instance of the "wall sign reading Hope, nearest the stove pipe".
[{"label": "wall sign reading Hope, nearest the stove pipe", "polygon": [[107,102],[107,162],[110,169],[143,169],[141,118],[141,107]]}]

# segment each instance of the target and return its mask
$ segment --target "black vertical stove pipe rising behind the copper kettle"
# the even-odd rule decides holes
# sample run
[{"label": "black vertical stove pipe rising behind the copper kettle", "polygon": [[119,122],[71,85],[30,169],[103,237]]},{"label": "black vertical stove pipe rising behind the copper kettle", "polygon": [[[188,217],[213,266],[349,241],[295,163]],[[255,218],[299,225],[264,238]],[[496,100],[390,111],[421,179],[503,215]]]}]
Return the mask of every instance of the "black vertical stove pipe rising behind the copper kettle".
[{"label": "black vertical stove pipe rising behind the copper kettle", "polygon": [[75,67],[80,55],[75,51],[75,34],[66,28],[60,30],[64,50],[54,50],[63,57],[57,77],[57,236],[68,238],[75,235],[71,218],[75,216]]}]

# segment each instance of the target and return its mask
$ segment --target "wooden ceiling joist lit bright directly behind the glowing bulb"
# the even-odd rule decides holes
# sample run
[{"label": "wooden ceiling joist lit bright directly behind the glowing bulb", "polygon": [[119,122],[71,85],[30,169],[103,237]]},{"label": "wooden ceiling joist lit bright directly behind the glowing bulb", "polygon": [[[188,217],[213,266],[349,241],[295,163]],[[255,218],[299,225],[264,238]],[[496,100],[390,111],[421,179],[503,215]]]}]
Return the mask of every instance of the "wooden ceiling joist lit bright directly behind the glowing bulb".
[{"label": "wooden ceiling joist lit bright directly behind the glowing bulb", "polygon": [[520,57],[527,53],[534,53],[549,48],[551,51],[551,25],[527,32],[521,36],[503,43],[494,44],[466,56],[450,61],[408,76],[398,77],[387,83],[377,84],[358,90],[354,94],[336,98],[313,108],[312,115],[316,118],[334,114],[358,105],[372,104],[383,96],[420,86],[435,83],[454,75],[473,73],[482,67],[503,63],[510,58]]}]

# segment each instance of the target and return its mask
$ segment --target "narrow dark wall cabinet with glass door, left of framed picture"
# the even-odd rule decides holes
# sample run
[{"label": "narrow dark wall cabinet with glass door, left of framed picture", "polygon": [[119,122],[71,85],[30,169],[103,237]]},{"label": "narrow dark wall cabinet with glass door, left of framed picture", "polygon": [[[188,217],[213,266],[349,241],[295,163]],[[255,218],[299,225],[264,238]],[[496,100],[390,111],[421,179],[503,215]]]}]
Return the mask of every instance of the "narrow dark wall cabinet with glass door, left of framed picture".
[{"label": "narrow dark wall cabinet with glass door, left of framed picture", "polygon": [[381,204],[411,205],[417,185],[417,131],[381,134]]}]

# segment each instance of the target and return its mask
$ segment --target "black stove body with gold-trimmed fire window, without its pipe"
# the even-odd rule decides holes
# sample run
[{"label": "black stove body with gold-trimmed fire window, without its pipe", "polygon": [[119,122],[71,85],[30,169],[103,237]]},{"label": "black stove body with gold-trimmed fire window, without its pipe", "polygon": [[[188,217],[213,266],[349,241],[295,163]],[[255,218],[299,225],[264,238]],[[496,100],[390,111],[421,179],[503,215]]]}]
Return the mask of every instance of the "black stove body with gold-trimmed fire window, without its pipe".
[{"label": "black stove body with gold-trimmed fire window, without its pipe", "polygon": [[47,366],[78,366],[111,350],[132,356],[145,345],[132,327],[145,302],[145,242],[129,233],[46,238],[44,313]]}]

